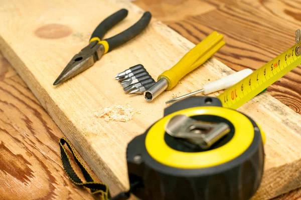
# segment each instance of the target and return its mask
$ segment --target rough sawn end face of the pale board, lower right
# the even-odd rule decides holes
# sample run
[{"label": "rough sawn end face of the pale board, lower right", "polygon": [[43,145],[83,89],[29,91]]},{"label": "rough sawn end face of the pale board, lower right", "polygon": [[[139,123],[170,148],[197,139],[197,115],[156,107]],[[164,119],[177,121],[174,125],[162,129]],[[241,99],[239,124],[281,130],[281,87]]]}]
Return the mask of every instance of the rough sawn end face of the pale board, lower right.
[{"label": "rough sawn end face of the pale board, lower right", "polygon": [[265,170],[252,200],[270,199],[298,187],[301,187],[301,159]]}]

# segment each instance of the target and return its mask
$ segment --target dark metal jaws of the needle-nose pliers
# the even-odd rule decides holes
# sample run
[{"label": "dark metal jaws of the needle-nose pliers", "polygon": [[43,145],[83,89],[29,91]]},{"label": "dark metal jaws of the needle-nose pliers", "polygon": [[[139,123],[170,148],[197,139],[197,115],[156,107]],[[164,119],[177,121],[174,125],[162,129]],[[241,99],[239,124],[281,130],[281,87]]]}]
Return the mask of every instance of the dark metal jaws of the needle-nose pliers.
[{"label": "dark metal jaws of the needle-nose pliers", "polygon": [[59,77],[54,81],[53,85],[57,85],[60,82],[65,81],[86,70],[97,60],[99,60],[103,53],[103,44],[98,43],[98,41],[92,41],[89,43],[89,45],[81,49],[79,53],[72,57]]}]

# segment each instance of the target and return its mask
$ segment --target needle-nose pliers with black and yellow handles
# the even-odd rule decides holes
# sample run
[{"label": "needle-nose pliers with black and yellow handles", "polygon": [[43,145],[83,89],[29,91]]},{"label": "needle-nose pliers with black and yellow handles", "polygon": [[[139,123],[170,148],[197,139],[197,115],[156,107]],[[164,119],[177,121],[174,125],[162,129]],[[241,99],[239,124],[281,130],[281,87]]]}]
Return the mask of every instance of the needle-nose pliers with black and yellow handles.
[{"label": "needle-nose pliers with black and yellow handles", "polygon": [[152,18],[152,14],[146,11],[142,17],[128,29],[115,36],[102,40],[106,31],[124,19],[127,16],[127,13],[128,11],[126,9],[120,9],[104,19],[93,31],[89,44],[72,57],[70,62],[54,81],[53,85],[57,85],[86,70],[99,60],[104,53],[107,53],[134,38],[145,29],[150,18]]}]

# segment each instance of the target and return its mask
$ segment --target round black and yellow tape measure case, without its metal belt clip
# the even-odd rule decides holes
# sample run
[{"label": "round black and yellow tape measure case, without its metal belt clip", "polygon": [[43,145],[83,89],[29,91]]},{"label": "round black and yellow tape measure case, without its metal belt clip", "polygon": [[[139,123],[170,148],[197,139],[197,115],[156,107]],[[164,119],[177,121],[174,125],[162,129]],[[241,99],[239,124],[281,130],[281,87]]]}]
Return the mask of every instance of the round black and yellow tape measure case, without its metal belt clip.
[{"label": "round black and yellow tape measure case, without its metal belt clip", "polygon": [[[208,149],[166,132],[183,114],[206,123],[226,123],[229,131]],[[164,117],[136,136],[126,159],[132,193],[141,199],[249,199],[264,165],[260,128],[245,114],[222,107],[218,98],[193,96],[167,107]]]}]

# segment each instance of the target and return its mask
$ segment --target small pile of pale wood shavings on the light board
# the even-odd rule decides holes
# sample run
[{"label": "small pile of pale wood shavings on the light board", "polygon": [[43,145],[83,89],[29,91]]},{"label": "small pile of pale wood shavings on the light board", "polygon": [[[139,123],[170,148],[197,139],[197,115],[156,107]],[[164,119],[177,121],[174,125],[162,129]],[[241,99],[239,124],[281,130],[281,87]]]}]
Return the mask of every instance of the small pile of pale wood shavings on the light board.
[{"label": "small pile of pale wood shavings on the light board", "polygon": [[140,114],[141,110],[134,110],[134,108],[131,108],[130,104],[125,105],[111,105],[107,106],[103,109],[103,111],[100,114],[95,114],[96,117],[103,118],[105,121],[130,121],[133,117],[133,115],[137,113]]}]

